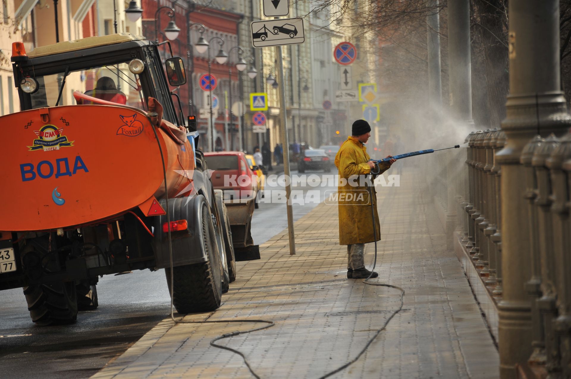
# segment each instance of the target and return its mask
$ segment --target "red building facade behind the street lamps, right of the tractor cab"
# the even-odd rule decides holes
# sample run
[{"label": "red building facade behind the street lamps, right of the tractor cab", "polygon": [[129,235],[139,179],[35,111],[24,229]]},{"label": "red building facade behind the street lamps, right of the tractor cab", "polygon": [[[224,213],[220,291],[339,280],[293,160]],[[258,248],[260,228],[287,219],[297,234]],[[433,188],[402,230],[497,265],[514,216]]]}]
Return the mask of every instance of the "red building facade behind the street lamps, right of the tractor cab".
[{"label": "red building facade behind the street lamps, right of the tractor cab", "polygon": [[[187,83],[180,86],[175,93],[180,97],[183,105],[184,115],[199,115],[200,109],[209,109],[206,104],[205,91],[200,88],[199,78],[203,74],[208,74],[208,54],[199,54],[194,48],[200,37],[200,25],[204,25],[202,36],[210,41],[211,74],[217,79],[216,88],[212,90],[213,95],[218,97],[218,117],[214,121],[214,141],[216,149],[231,150],[238,149],[238,136],[236,135],[237,118],[226,119],[226,108],[230,108],[230,96],[232,103],[240,99],[240,85],[238,70],[236,70],[236,62],[238,62],[238,30],[239,23],[242,22],[243,16],[228,10],[219,10],[210,7],[196,5],[190,1],[179,1],[174,5],[172,2],[161,0],[142,0],[143,8],[143,35],[149,40],[158,40],[159,43],[166,39],[164,28],[167,27],[171,20],[174,20],[176,26],[180,28],[178,38],[172,40],[172,54],[180,56],[184,60],[187,71]],[[160,9],[160,7],[165,7]],[[170,10],[166,7],[173,7],[175,12],[171,18]],[[157,13],[158,11],[158,13]],[[155,18],[155,14],[157,15]],[[223,45],[219,42],[223,39]],[[225,64],[219,64],[215,60],[215,55],[222,48],[230,54],[230,58]],[[159,48],[164,59],[170,58],[168,45],[163,44]],[[231,51],[231,52],[230,52]],[[231,75],[229,75],[231,69]],[[175,88],[171,88],[175,89]],[[208,112],[209,113],[209,112]],[[230,112],[228,112],[230,113]],[[228,120],[226,122],[226,120]],[[203,135],[206,135],[209,119],[198,119],[198,129]],[[227,132],[226,132],[227,131]],[[209,138],[200,138],[202,148],[210,150],[210,144],[207,144]]]}]

